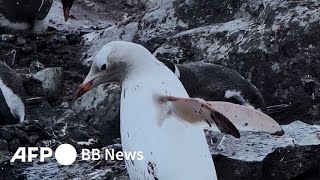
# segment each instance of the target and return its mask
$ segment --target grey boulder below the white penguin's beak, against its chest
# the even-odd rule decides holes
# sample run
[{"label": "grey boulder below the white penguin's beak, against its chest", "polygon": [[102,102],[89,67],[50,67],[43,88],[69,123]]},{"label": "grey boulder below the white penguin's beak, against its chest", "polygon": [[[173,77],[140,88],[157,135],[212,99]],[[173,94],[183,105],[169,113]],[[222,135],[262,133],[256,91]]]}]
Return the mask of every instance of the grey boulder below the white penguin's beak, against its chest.
[{"label": "grey boulder below the white penguin's beak, against its chest", "polygon": [[[102,144],[110,144],[113,139],[120,137],[120,92],[120,87],[116,84],[98,86],[75,101],[72,110],[65,111],[58,122],[68,123],[65,132],[74,132],[73,139],[76,141],[94,138],[86,129],[90,127],[93,129],[91,133],[95,132]],[[79,124],[83,125],[86,133],[81,133],[83,131],[79,129]]]}]

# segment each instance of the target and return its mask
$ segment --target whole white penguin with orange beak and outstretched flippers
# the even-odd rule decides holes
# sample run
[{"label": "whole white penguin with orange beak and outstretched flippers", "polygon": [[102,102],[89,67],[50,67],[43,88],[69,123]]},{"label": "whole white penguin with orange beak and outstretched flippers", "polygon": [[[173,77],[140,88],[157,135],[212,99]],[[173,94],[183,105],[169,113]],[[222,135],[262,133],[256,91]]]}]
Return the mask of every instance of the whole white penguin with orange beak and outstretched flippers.
[{"label": "whole white penguin with orange beak and outstretched flippers", "polygon": [[[143,152],[143,160],[126,160],[131,180],[216,180],[205,127],[217,126],[235,137],[240,134],[233,124],[244,130],[283,133],[260,112],[189,98],[177,76],[138,44],[113,41],[103,46],[76,97],[110,81],[122,83],[123,151]],[[241,119],[232,112],[240,113]]]}]

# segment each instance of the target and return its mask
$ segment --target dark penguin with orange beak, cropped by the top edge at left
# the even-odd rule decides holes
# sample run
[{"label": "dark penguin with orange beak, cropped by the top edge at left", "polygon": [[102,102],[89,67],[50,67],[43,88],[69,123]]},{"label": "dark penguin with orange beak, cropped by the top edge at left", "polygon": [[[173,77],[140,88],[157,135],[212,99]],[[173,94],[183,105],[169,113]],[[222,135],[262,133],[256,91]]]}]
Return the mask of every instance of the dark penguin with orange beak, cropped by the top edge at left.
[{"label": "dark penguin with orange beak, cropped by the top edge at left", "polygon": [[[0,27],[4,31],[41,33],[48,27],[47,17],[53,0],[0,0]],[[73,0],[61,0],[65,20]]]}]

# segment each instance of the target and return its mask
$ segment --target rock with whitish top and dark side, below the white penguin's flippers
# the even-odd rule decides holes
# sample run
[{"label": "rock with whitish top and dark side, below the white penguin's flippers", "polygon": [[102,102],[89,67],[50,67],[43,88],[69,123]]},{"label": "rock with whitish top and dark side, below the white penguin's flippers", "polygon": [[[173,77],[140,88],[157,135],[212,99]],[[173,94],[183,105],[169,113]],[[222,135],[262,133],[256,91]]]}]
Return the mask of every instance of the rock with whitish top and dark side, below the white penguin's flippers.
[{"label": "rock with whitish top and dark side, below the white penguin's flippers", "polygon": [[243,132],[240,139],[207,132],[218,178],[292,179],[320,167],[320,126],[295,121],[282,127],[283,136]]}]

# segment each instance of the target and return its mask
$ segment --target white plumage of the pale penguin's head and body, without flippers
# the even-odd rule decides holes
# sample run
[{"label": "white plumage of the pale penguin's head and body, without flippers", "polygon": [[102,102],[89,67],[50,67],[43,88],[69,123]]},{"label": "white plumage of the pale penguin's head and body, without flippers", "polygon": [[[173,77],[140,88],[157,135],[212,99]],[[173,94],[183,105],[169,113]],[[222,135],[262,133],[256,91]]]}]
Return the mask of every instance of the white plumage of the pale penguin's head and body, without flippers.
[{"label": "white plumage of the pale penguin's head and body, without flippers", "polygon": [[[103,70],[105,64],[107,71]],[[144,156],[141,161],[126,161],[131,180],[217,179],[202,128],[195,128],[177,116],[167,116],[159,124],[161,109],[155,96],[188,97],[175,74],[144,47],[114,41],[95,55],[83,86],[110,78],[122,82],[123,151],[142,151]]]}]

